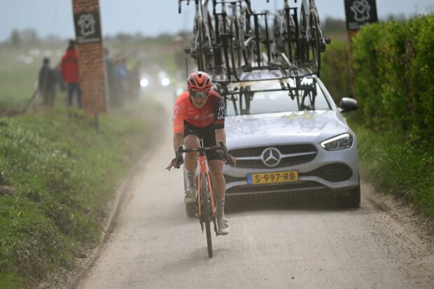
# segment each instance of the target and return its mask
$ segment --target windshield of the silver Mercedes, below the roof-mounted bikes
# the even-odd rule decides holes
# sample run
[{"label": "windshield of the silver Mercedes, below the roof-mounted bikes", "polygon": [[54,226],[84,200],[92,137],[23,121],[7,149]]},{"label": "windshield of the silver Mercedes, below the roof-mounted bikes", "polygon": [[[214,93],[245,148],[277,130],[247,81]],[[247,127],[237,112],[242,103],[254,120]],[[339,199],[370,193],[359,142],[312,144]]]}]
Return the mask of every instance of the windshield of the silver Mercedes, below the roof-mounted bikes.
[{"label": "windshield of the silver Mercedes, below the roof-mounted bikes", "polygon": [[287,84],[255,82],[226,96],[226,115],[331,110],[321,87],[314,78]]}]

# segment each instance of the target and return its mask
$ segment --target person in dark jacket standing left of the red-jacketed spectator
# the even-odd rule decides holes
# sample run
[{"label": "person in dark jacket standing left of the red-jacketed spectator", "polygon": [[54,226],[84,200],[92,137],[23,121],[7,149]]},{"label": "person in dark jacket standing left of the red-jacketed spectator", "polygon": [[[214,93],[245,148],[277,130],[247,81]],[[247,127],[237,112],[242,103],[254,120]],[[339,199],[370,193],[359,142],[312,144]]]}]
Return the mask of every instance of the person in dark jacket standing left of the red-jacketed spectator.
[{"label": "person in dark jacket standing left of the red-jacketed spectator", "polygon": [[56,97],[57,78],[55,71],[50,68],[50,59],[45,57],[38,75],[38,91],[43,99],[43,105],[53,107]]}]

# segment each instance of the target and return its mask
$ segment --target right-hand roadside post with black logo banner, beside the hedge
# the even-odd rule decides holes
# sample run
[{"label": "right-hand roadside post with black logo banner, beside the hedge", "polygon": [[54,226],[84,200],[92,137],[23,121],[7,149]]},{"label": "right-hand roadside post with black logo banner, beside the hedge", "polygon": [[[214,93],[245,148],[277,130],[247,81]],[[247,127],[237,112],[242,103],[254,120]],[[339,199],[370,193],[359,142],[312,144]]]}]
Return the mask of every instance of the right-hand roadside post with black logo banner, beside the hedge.
[{"label": "right-hand roadside post with black logo banner, beside the hedge", "polygon": [[349,68],[351,86],[355,94],[356,80],[353,71],[353,37],[367,23],[378,22],[376,0],[344,0],[346,16],[346,34],[348,36]]}]

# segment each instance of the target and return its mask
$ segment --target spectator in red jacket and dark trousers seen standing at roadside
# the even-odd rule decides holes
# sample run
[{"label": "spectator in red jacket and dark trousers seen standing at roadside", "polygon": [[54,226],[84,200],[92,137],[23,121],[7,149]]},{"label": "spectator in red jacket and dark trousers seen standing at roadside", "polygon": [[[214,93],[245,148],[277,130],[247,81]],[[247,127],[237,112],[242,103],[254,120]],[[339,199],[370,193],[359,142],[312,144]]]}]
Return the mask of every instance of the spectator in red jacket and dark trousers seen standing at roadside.
[{"label": "spectator in red jacket and dark trousers seen standing at roadside", "polygon": [[69,40],[69,46],[62,57],[60,64],[62,76],[68,89],[68,106],[72,104],[73,93],[76,91],[78,108],[81,108],[80,77],[78,75],[78,52],[74,40]]}]

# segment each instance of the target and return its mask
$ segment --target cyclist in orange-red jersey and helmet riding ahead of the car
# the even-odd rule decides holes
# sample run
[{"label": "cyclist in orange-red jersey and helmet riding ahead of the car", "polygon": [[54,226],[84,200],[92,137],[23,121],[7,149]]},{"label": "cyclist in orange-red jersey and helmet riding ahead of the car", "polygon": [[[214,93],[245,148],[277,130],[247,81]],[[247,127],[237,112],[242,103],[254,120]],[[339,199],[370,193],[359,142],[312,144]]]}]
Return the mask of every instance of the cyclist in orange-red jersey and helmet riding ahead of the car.
[{"label": "cyclist in orange-red jersey and helmet riding ahead of the car", "polygon": [[[200,146],[199,139],[203,138],[204,147],[217,145],[220,140],[226,144],[225,133],[225,101],[216,91],[211,89],[211,77],[202,71],[190,73],[187,78],[188,91],[176,99],[174,105],[174,151],[181,144],[186,149]],[[226,182],[223,177],[223,157],[217,151],[207,151],[207,160],[214,193],[217,200],[216,218],[218,234],[229,233],[229,223],[225,218],[225,189]],[[197,168],[198,153],[186,154],[184,166],[187,171],[187,190],[184,197],[186,204],[195,204],[197,188],[195,172]],[[230,156],[231,163],[235,158]],[[176,163],[176,158],[167,167],[167,170],[179,168],[183,160]]]}]

